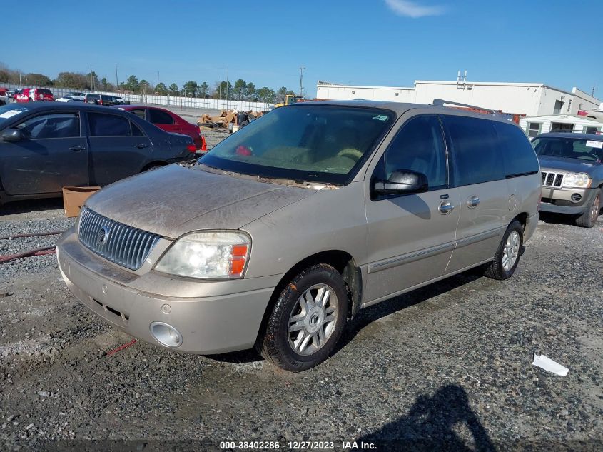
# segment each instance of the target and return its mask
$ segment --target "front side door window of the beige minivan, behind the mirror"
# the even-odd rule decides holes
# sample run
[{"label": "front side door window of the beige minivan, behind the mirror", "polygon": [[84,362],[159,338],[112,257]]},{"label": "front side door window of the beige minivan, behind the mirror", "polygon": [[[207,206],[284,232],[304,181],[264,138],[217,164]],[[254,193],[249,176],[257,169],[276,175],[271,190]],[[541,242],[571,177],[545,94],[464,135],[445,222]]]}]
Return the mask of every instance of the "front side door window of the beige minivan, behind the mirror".
[{"label": "front side door window of the beige minivan, behind the mirror", "polygon": [[408,169],[425,174],[430,189],[448,184],[444,137],[437,116],[417,116],[408,121],[382,159],[386,179],[396,170]]}]

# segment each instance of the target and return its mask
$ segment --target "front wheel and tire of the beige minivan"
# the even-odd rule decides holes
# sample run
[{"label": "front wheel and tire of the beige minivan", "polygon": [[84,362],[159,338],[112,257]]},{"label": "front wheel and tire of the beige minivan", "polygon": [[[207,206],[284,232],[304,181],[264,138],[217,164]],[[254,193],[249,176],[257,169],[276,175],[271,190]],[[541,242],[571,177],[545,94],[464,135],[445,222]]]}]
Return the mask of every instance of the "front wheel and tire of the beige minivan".
[{"label": "front wheel and tire of the beige minivan", "polygon": [[[286,371],[317,366],[339,341],[348,306],[348,287],[335,268],[323,263],[306,268],[280,292],[256,348]],[[290,332],[290,327],[296,329]]]}]

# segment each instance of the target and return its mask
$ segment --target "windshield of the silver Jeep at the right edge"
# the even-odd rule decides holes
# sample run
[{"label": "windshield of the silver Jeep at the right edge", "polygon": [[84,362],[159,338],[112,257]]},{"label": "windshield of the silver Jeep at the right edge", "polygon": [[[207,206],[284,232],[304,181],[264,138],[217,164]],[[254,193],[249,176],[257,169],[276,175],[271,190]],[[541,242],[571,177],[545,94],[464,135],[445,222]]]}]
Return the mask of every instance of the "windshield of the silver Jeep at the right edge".
[{"label": "windshield of the silver Jeep at the right edge", "polygon": [[573,136],[537,138],[532,141],[532,146],[538,156],[603,161],[603,137],[602,141]]}]

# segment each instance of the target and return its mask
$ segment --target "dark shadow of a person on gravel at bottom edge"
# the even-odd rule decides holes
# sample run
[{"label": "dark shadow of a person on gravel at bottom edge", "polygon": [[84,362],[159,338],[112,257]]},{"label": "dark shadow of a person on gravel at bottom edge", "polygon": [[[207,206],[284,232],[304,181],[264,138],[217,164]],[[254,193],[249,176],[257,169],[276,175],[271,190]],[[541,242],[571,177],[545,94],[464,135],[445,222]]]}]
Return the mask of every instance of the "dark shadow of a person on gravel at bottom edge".
[{"label": "dark shadow of a person on gravel at bottom edge", "polygon": [[[465,438],[459,435],[464,431]],[[432,396],[420,395],[406,416],[390,422],[358,443],[378,451],[495,451],[465,389],[447,385]]]}]

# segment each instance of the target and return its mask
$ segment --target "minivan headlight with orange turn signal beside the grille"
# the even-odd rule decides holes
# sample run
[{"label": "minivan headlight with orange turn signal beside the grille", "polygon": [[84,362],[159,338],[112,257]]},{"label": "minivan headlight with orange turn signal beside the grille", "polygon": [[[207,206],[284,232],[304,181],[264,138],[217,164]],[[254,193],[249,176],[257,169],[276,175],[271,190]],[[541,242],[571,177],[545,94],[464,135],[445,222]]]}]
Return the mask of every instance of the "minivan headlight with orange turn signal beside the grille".
[{"label": "minivan headlight with orange turn signal beside the grille", "polygon": [[242,232],[194,232],[178,238],[155,269],[190,278],[240,278],[250,250],[251,239]]}]

